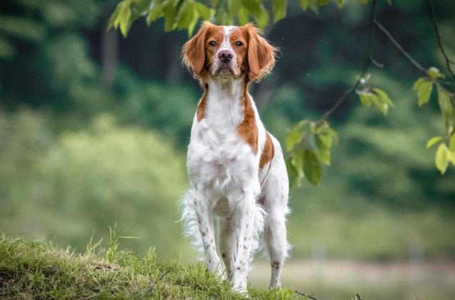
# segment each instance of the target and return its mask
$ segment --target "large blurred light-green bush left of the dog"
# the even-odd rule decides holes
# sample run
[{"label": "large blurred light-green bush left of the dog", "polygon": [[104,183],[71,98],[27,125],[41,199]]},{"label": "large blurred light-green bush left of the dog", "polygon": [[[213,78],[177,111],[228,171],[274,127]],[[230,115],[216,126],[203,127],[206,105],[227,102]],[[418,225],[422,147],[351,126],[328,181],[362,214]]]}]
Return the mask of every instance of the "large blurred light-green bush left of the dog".
[{"label": "large blurred light-green bush left of the dog", "polygon": [[[145,240],[126,245],[159,254],[183,239],[176,200],[186,188],[184,155],[158,133],[121,127],[99,115],[54,143],[44,121],[24,111],[1,124],[1,227],[27,228],[83,249],[94,229],[107,226]],[[50,136],[50,137],[49,137]],[[124,233],[124,232],[122,232]],[[99,234],[96,234],[98,237]],[[141,244],[141,247],[138,247]]]}]

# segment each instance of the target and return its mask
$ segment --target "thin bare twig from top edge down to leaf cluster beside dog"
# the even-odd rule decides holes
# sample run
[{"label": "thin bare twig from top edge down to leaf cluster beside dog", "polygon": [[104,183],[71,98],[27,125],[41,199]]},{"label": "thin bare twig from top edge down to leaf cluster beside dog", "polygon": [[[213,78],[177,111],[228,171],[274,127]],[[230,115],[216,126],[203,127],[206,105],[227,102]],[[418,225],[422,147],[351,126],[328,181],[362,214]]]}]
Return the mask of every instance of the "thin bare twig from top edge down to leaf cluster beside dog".
[{"label": "thin bare twig from top edge down to leaf cluster beside dog", "polygon": [[316,124],[324,123],[324,121],[326,121],[329,118],[329,116],[332,113],[334,113],[334,111],[336,109],[338,109],[342,103],[344,103],[344,100],[346,100],[346,98],[349,95],[351,95],[351,93],[354,93],[356,91],[357,87],[359,87],[359,85],[361,83],[362,78],[365,76],[366,71],[368,70],[368,67],[370,66],[370,63],[372,61],[374,61],[372,59],[371,53],[373,51],[373,46],[374,46],[374,26],[373,26],[373,24],[374,24],[374,20],[376,18],[376,0],[373,0],[372,2],[373,3],[371,4],[371,22],[370,22],[369,51],[368,51],[369,54],[366,58],[364,67],[362,68],[359,78],[356,79],[356,81],[351,86],[351,88],[344,91],[344,93],[341,95],[341,97],[338,100],[336,100],[335,104],[329,110],[327,110],[326,113],[324,113],[324,115],[318,121],[316,121]]}]

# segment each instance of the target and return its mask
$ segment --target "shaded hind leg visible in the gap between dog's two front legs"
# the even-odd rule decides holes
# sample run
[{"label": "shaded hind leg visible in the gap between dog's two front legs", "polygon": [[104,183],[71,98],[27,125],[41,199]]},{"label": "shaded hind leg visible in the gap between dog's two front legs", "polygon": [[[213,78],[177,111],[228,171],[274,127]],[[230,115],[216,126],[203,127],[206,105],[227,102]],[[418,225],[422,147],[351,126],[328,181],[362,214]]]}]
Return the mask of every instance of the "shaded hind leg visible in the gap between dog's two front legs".
[{"label": "shaded hind leg visible in the gap between dog's two front legs", "polygon": [[235,230],[231,217],[218,217],[216,220],[218,226],[218,241],[221,258],[226,267],[226,277],[232,279],[234,272],[234,251],[235,251]]}]

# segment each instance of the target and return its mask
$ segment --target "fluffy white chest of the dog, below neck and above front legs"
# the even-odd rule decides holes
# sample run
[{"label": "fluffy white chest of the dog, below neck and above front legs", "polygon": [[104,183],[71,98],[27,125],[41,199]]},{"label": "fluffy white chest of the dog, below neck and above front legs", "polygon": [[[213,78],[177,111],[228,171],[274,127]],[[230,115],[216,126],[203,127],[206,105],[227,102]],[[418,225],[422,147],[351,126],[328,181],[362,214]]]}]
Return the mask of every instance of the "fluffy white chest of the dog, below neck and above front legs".
[{"label": "fluffy white chest of the dog, below neck and above front legs", "polygon": [[208,103],[205,118],[191,130],[187,167],[193,183],[209,182],[226,190],[241,177],[254,175],[254,153],[239,136],[243,108],[239,101]]}]

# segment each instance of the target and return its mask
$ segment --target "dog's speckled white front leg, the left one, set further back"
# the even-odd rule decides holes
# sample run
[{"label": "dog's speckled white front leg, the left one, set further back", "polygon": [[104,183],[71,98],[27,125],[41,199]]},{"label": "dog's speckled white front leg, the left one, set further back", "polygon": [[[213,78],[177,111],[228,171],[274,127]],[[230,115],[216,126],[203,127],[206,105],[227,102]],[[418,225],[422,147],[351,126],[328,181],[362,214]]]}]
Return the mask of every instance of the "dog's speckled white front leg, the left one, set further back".
[{"label": "dog's speckled white front leg, the left one, set further back", "polygon": [[206,195],[205,189],[198,189],[194,199],[194,209],[204,247],[207,269],[221,276],[220,259],[215,247],[214,216],[208,199],[209,197]]}]

